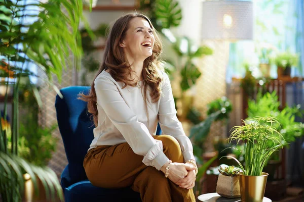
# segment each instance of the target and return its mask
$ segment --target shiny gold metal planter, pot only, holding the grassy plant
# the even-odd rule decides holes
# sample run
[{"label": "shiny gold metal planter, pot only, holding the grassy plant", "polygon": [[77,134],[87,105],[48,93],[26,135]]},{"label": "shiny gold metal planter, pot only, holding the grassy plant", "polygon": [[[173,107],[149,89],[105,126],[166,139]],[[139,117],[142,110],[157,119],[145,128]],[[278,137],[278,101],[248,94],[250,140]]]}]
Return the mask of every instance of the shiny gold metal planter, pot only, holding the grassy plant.
[{"label": "shiny gold metal planter, pot only, holding the grassy plant", "polygon": [[268,173],[262,172],[261,176],[243,175],[239,173],[241,201],[242,202],[262,202]]}]

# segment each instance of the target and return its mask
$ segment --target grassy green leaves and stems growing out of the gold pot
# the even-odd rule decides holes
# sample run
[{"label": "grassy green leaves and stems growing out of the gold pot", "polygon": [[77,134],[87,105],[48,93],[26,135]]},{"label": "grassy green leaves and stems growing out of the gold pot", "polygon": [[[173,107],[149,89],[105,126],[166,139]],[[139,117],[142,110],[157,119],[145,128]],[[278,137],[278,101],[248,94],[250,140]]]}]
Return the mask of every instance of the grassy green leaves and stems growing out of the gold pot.
[{"label": "grassy green leaves and stems growing out of the gold pot", "polygon": [[[244,121],[244,124],[232,128],[229,142],[235,140],[237,144],[243,143],[245,168],[236,158],[231,158],[238,162],[244,175],[260,176],[269,157],[284,145],[283,136],[273,126],[273,124],[281,124],[274,117],[254,117]],[[273,144],[270,145],[269,141]]]}]

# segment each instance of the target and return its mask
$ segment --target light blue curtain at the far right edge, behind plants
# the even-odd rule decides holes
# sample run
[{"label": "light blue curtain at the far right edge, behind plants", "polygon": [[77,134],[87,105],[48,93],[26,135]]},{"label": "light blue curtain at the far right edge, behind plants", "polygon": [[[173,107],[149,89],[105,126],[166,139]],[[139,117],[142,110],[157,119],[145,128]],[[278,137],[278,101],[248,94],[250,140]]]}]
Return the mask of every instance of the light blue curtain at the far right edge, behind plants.
[{"label": "light blue curtain at the far right edge, behind plants", "polygon": [[[289,5],[288,24],[294,29],[289,29],[286,34],[286,48],[300,54],[299,68],[293,69],[293,75],[303,76],[304,70],[304,3],[302,0],[293,0]],[[303,82],[292,84],[287,103],[289,105],[301,105],[304,110]],[[289,96],[288,96],[289,95]],[[303,122],[303,118],[297,117],[296,121]],[[304,181],[304,137],[297,138],[289,145],[287,150],[287,178],[293,182]],[[302,184],[304,185],[304,183]]]}]

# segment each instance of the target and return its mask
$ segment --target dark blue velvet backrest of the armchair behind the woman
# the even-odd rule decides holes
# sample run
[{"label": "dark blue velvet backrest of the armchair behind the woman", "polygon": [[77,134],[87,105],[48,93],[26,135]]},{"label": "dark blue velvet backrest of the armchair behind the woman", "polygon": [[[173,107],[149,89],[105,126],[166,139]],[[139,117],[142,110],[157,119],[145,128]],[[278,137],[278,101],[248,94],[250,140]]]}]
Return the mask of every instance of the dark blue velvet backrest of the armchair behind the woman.
[{"label": "dark blue velvet backrest of the armchair behind the woman", "polygon": [[73,182],[87,179],[83,161],[94,138],[94,122],[88,112],[87,103],[77,97],[80,92],[88,94],[89,90],[89,86],[70,86],[60,90],[63,98],[56,96],[58,127]]}]

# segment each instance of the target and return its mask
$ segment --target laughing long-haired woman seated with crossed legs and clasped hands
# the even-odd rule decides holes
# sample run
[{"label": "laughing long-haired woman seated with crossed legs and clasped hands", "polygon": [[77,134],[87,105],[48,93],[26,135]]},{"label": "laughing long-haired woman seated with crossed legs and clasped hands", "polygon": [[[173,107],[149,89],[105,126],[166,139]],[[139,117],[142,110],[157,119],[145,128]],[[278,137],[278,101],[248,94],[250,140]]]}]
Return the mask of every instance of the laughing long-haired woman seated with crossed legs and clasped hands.
[{"label": "laughing long-haired woman seated with crossed legs and clasped hands", "polygon": [[[146,16],[113,25],[90,93],[81,94],[96,126],[84,168],[93,185],[131,186],[142,201],[195,201],[193,147],[176,118],[161,52]],[[158,123],[166,135],[155,136]]]}]

